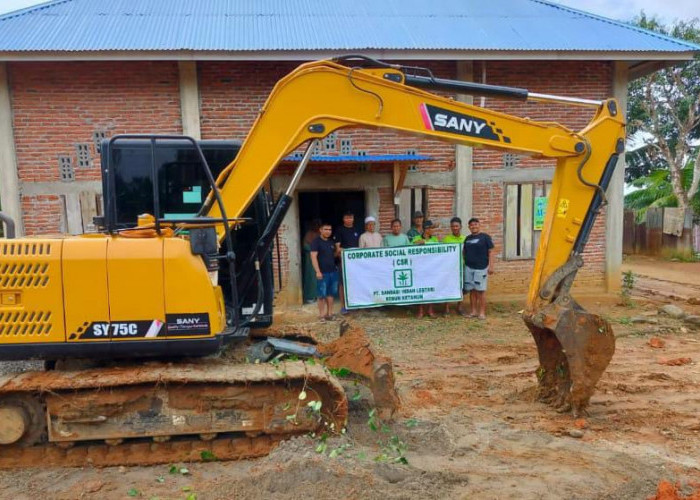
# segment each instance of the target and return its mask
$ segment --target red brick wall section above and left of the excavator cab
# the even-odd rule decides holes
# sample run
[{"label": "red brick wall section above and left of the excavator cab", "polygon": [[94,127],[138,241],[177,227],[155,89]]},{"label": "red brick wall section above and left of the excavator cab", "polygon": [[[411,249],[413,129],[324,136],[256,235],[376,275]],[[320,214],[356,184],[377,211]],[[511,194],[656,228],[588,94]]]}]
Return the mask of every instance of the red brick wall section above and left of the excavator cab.
[{"label": "red brick wall section above and left of the excavator cab", "polygon": [[[99,180],[97,128],[182,133],[176,62],[10,63],[9,74],[21,181],[59,181],[59,155],[73,158],[76,180]],[[76,143],[90,143],[92,167],[77,166]],[[27,234],[57,232],[61,199],[37,198],[22,198]]]}]

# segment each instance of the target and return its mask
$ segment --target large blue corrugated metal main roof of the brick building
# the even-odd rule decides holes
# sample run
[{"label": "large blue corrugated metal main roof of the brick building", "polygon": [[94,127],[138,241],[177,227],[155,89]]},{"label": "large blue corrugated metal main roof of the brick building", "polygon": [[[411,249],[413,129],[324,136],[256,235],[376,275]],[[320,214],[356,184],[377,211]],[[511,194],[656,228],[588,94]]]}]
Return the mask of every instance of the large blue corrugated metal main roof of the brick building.
[{"label": "large blue corrugated metal main roof of the brick building", "polygon": [[0,52],[313,50],[700,47],[543,0],[54,0],[0,16]]}]

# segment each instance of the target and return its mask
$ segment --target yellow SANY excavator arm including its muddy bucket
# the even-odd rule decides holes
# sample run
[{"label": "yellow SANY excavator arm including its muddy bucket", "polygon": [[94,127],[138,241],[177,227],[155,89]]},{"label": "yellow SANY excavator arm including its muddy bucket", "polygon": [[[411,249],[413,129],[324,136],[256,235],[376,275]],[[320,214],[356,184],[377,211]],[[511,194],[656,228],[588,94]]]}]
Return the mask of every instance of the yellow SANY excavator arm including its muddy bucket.
[{"label": "yellow SANY excavator arm including its muddy bucket", "polygon": [[[595,111],[588,125],[576,132],[557,123],[457,102],[419,87],[563,102]],[[280,161],[301,145],[339,129],[358,127],[556,160],[524,319],[538,347],[541,398],[574,413],[583,410],[612,358],[614,337],[610,326],[583,311],[569,291],[623,151],[624,121],[617,102],[441,80],[425,70],[363,57],[304,64],[277,83],[238,156],[217,179],[227,216],[240,217]],[[287,191],[287,205],[310,149]],[[213,197],[202,213],[221,217]],[[283,213],[277,215],[281,222]],[[219,226],[217,232],[223,239],[225,228]]]}]

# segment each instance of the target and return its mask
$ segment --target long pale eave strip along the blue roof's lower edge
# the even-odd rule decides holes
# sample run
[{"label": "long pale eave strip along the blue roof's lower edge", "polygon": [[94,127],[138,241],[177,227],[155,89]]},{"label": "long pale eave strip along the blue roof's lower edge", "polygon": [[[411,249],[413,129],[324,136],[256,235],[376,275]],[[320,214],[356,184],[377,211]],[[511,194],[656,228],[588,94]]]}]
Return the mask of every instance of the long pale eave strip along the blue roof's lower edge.
[{"label": "long pale eave strip along the blue roof's lower edge", "polygon": [[[194,50],[109,50],[109,51],[0,51],[0,61],[309,61],[328,59],[348,53],[361,53],[385,60],[584,60],[629,61],[662,65],[693,59],[692,50],[660,51],[584,51],[584,50],[266,50],[266,51],[194,51]],[[630,65],[637,67],[639,65]]]}]

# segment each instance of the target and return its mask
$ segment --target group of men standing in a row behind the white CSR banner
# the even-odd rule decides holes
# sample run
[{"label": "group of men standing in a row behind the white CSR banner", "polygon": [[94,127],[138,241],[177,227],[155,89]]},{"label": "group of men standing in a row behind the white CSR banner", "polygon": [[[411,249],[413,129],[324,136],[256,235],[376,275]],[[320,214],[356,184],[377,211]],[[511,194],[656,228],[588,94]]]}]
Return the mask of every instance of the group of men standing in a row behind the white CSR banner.
[{"label": "group of men standing in a row behind the white CSR banner", "polygon": [[[469,235],[462,234],[462,220],[453,217],[450,220],[450,234],[442,241],[433,233],[436,229],[431,220],[425,220],[422,212],[413,214],[413,226],[407,233],[402,233],[401,220],[391,221],[391,233],[381,236],[376,232],[377,220],[365,218],[365,232],[359,234],[355,229],[355,216],[351,212],[343,215],[343,225],[333,232],[330,224],[323,223],[319,236],[311,242],[311,263],[316,273],[316,292],[318,311],[321,319],[333,318],[333,297],[338,294],[342,304],[341,314],[347,313],[342,283],[342,267],[336,264],[341,252],[349,248],[397,247],[407,245],[431,245],[435,243],[459,243],[462,245],[464,258],[464,293],[469,293],[470,312],[463,303],[457,306],[457,312],[465,317],[486,318],[486,286],[488,275],[493,274],[493,241],[481,232],[479,219],[469,219]],[[445,304],[445,315],[450,314],[450,304]],[[426,315],[423,305],[418,306],[418,318]],[[427,305],[427,315],[437,317],[433,304]]]}]

